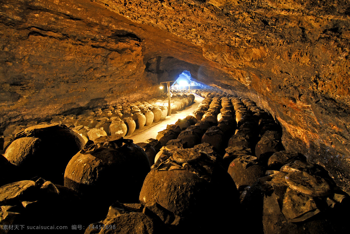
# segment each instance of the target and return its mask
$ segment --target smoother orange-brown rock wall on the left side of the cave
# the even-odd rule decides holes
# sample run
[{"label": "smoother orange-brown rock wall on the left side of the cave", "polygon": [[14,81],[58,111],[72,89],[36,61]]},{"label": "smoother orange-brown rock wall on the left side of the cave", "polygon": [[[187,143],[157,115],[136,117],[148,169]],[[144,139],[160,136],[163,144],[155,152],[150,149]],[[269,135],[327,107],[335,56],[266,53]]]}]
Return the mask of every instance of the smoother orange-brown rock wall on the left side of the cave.
[{"label": "smoother orange-brown rock wall on the left side of the cave", "polygon": [[1,129],[158,96],[168,77],[147,67],[152,58],[164,58],[161,67],[173,67],[170,56],[190,70],[219,66],[186,40],[89,1],[3,1],[0,38]]}]

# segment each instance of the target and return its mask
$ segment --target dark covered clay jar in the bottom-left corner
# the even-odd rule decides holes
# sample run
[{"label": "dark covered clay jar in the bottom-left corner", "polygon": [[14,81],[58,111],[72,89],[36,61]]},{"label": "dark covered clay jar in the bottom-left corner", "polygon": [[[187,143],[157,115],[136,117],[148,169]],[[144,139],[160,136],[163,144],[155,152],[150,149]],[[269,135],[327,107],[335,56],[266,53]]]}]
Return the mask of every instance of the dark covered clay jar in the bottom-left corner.
[{"label": "dark covered clay jar in the bottom-left corner", "polygon": [[[22,227],[14,225],[19,230],[26,229],[26,226],[33,227],[43,224],[48,226],[56,226],[58,223],[61,225],[79,224],[86,222],[86,219],[89,220],[93,216],[87,212],[88,209],[85,209],[86,206],[84,207],[74,191],[42,178],[38,178],[36,181],[22,180],[6,184],[0,187],[0,194],[1,210],[7,214],[4,219],[1,219],[1,223],[8,224],[7,221],[10,221],[10,224],[23,225]],[[23,206],[13,213],[13,208],[19,208],[21,202]],[[5,226],[3,229],[5,230],[1,233],[7,233]],[[24,231],[24,233],[26,232]],[[30,233],[60,233],[60,231],[37,229]]]}]

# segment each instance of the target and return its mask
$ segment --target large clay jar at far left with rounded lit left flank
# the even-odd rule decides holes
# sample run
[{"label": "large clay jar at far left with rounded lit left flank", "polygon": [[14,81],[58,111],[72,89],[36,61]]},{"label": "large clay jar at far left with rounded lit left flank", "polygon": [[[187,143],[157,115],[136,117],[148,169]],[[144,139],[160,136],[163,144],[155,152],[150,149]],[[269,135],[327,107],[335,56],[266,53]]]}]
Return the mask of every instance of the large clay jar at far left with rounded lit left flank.
[{"label": "large clay jar at far left with rounded lit left flank", "polygon": [[62,173],[85,141],[61,124],[40,124],[18,133],[5,151],[5,158],[28,179],[40,176],[63,184]]}]

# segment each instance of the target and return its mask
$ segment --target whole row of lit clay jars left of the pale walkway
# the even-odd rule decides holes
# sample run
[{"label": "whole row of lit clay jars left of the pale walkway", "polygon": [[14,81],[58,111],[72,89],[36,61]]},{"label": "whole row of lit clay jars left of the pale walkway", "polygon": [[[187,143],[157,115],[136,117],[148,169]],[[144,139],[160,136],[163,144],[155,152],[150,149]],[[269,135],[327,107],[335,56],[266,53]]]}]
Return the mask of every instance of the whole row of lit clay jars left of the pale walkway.
[{"label": "whole row of lit clay jars left of the pale walkway", "polygon": [[[193,94],[179,93],[171,103],[172,113],[182,111],[191,105],[194,100]],[[87,142],[100,136],[131,135],[135,129],[149,126],[152,122],[165,119],[168,115],[168,99],[152,99],[148,102],[136,102],[128,105],[115,105],[98,108],[97,110],[84,110],[79,115],[57,115],[50,123],[62,123],[76,131]],[[41,122],[48,123],[48,122]],[[12,140],[13,136],[21,130],[38,124],[33,121],[25,125],[8,126],[4,136],[0,137],[1,149],[4,149]]]}]

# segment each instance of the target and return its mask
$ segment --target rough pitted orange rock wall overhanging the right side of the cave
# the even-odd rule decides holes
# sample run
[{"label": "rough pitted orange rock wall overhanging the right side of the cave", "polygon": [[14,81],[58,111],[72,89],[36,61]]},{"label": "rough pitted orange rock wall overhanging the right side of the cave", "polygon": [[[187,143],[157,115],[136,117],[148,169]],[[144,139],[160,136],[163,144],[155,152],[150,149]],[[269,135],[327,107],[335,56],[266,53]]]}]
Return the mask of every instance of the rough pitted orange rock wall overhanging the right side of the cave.
[{"label": "rough pitted orange rock wall overhanging the right side of the cave", "polygon": [[[346,1],[97,2],[200,46],[226,72],[207,84],[260,103],[281,123],[287,149],[305,153],[350,191]],[[232,78],[249,91],[236,90]]]}]

